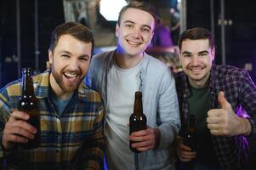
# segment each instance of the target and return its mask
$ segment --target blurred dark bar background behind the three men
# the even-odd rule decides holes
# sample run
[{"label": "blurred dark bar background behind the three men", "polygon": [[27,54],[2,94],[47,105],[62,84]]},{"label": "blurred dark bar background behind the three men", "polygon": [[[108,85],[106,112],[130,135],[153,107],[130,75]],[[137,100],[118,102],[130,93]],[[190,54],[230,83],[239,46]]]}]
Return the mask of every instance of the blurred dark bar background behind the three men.
[{"label": "blurred dark bar background behind the three men", "polygon": [[[146,0],[145,0],[146,1]],[[48,42],[54,27],[65,21],[77,21],[94,31],[95,50],[115,48],[116,20],[125,0],[0,0],[0,88],[20,78],[22,67],[34,73],[47,69]],[[256,10],[253,0],[147,0],[170,30],[173,45],[148,51],[179,71],[177,40],[180,31],[206,27],[215,36],[215,62],[246,68],[256,81]],[[108,7],[103,6],[107,4]],[[111,8],[110,8],[111,7]],[[109,9],[108,11],[104,11]],[[114,15],[114,14],[113,14]],[[255,143],[250,141],[251,165],[255,162]],[[254,158],[253,158],[254,157]],[[253,160],[254,159],[254,160]],[[254,161],[254,162],[253,162]]]}]

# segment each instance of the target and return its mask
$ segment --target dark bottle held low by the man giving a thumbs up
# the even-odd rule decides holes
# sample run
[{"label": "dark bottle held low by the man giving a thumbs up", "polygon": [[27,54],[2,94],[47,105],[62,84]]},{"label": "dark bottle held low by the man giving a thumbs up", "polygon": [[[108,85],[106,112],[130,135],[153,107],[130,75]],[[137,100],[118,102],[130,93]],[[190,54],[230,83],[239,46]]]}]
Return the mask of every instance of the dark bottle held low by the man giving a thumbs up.
[{"label": "dark bottle held low by the man giving a thumbs up", "polygon": [[194,115],[189,116],[188,125],[185,128],[183,137],[183,144],[189,146],[191,150],[196,150],[196,117]]}]

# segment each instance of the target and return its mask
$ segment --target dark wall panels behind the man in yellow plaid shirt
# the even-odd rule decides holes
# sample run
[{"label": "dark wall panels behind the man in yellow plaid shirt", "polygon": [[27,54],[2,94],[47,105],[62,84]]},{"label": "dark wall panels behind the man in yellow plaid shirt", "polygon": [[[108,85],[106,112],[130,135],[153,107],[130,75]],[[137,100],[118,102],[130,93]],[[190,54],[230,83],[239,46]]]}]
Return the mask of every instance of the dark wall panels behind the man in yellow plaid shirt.
[{"label": "dark wall panels behind the man in yellow plaid shirt", "polygon": [[[21,67],[35,69],[34,0],[20,0]],[[0,88],[18,78],[16,0],[0,0]],[[39,71],[46,68],[48,42],[54,26],[64,22],[62,0],[38,0]]]}]

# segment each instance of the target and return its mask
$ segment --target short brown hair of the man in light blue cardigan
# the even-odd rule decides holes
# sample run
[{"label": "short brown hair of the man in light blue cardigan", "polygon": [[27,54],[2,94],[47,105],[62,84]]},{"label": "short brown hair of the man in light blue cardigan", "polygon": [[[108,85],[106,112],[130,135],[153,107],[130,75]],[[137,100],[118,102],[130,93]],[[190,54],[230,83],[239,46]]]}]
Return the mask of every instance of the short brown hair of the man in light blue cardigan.
[{"label": "short brown hair of the man in light blue cardigan", "polygon": [[157,23],[157,20],[158,20],[158,15],[156,13],[156,8],[153,5],[151,5],[151,3],[145,3],[145,2],[142,2],[142,1],[132,1],[132,2],[128,3],[126,6],[122,7],[121,11],[119,12],[119,16],[118,16],[118,20],[117,20],[118,26],[120,26],[120,22],[122,20],[122,14],[128,8],[137,8],[139,10],[142,10],[142,11],[145,11],[145,12],[151,14],[152,17],[155,20],[154,28],[156,28],[156,23]]}]

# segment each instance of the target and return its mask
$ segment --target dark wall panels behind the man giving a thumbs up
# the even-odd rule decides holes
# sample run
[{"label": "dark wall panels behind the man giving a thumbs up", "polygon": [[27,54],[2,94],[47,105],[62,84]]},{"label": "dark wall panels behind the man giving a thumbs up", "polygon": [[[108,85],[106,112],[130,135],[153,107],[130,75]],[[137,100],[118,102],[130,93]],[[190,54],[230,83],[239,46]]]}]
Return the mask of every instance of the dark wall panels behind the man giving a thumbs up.
[{"label": "dark wall panels behind the man giving a thumbs up", "polygon": [[[216,63],[221,64],[220,0],[213,0]],[[225,1],[226,64],[244,68],[253,65],[250,75],[256,82],[256,10],[253,0]],[[211,29],[210,0],[187,0],[187,27]]]}]

